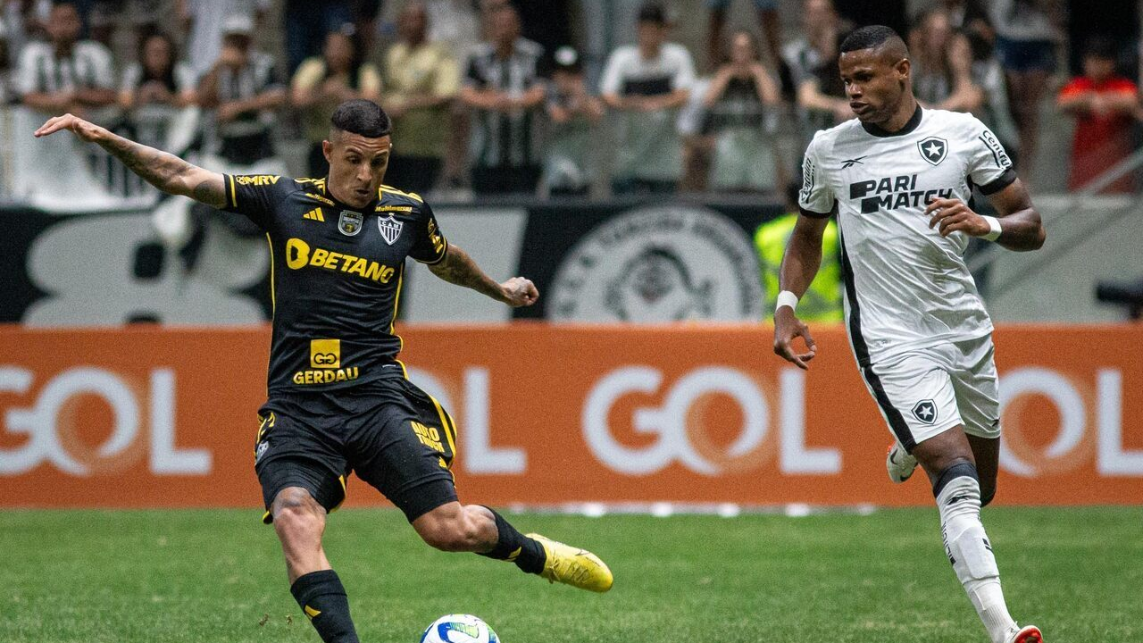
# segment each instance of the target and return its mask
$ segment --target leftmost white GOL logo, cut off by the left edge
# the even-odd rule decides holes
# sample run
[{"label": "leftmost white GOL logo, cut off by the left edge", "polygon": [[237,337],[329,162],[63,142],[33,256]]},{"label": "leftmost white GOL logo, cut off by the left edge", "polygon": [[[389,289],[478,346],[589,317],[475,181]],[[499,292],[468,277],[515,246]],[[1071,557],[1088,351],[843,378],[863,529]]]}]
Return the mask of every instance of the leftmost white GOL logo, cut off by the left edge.
[{"label": "leftmost white GOL logo, cut off by the left edge", "polygon": [[[26,368],[0,366],[0,394],[27,395],[33,381]],[[149,383],[137,391],[115,373],[88,366],[55,375],[29,406],[3,414],[3,430],[27,439],[19,447],[0,448],[0,476],[24,474],[43,462],[73,476],[118,471],[138,461],[147,446],[153,474],[208,475],[208,450],[175,447],[174,371],[155,368]],[[77,437],[83,421],[75,412],[77,396],[96,396],[111,408],[111,435],[97,447]],[[143,435],[147,426],[150,439]]]}]

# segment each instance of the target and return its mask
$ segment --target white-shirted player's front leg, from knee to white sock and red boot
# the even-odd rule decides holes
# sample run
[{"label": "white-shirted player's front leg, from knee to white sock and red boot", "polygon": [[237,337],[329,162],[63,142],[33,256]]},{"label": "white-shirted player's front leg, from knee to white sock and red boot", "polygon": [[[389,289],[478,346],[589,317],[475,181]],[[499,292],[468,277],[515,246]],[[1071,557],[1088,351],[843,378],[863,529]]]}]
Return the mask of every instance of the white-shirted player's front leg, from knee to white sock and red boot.
[{"label": "white-shirted player's front leg, from knee to white sock and red boot", "polygon": [[[982,446],[982,454],[988,457],[988,445]],[[933,483],[945,554],[992,643],[1039,643],[1039,629],[1020,628],[1008,614],[1000,571],[981,523],[981,481],[964,428],[957,426],[921,442],[912,454]],[[996,489],[994,463],[990,486]]]}]

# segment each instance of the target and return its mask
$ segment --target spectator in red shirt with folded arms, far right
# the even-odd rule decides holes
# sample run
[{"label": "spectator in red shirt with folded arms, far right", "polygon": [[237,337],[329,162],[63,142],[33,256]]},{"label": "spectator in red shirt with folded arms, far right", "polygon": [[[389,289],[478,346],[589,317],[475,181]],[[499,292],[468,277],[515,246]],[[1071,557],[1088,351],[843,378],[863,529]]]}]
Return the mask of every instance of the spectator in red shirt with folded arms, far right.
[{"label": "spectator in red shirt with folded arms, far right", "polygon": [[[1064,86],[1056,100],[1076,117],[1068,189],[1079,190],[1132,153],[1132,127],[1138,110],[1137,87],[1116,73],[1114,46],[1093,39],[1084,48],[1084,76]],[[1130,175],[1108,191],[1130,192]]]}]

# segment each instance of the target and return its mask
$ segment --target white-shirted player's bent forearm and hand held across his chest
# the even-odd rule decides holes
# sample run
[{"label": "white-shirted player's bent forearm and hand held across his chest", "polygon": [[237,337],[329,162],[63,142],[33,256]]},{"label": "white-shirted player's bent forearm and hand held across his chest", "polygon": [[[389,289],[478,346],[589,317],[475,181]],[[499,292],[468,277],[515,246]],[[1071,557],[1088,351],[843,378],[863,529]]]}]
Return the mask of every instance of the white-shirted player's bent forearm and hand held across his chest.
[{"label": "white-shirted player's bent forearm and hand held across his chest", "polygon": [[1032,197],[1020,178],[1004,190],[989,196],[989,203],[997,208],[996,222],[1000,227],[999,237],[989,217],[972,211],[960,199],[935,199],[925,214],[929,215],[929,228],[938,225],[942,237],[961,231],[973,237],[984,237],[1010,251],[1038,251],[1044,246],[1047,233],[1040,221],[1040,213],[1032,206]]}]

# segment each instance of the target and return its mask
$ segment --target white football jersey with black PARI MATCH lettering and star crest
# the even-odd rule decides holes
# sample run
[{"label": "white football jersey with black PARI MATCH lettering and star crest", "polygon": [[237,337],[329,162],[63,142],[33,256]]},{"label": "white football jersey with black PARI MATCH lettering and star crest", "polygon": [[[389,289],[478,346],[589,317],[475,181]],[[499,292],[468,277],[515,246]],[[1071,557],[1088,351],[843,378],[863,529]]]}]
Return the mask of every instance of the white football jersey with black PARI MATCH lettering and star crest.
[{"label": "white football jersey with black PARI MATCH lettering and star crest", "polygon": [[974,184],[992,195],[1015,180],[1004,146],[967,113],[918,108],[898,132],[853,119],[814,136],[799,205],[806,216],[837,214],[858,364],[992,332],[965,264],[969,237],[941,237],[925,207],[967,204]]}]

